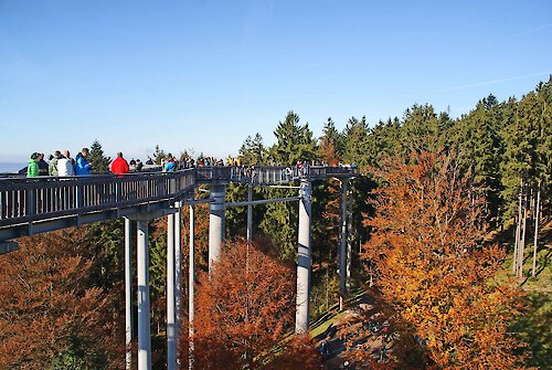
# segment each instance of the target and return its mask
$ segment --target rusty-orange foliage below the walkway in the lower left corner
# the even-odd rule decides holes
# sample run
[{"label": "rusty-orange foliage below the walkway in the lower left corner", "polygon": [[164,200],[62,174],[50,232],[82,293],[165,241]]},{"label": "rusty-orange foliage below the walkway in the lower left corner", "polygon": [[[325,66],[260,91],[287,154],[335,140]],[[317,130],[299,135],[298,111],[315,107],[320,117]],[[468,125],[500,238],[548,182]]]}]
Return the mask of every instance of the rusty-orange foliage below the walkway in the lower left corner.
[{"label": "rusty-orange foliage below the walkway in the lower left corner", "polygon": [[23,237],[0,256],[0,369],[45,369],[67,352],[94,368],[117,356],[108,300],[87,285],[92,263],[77,252],[82,237],[78,229]]}]

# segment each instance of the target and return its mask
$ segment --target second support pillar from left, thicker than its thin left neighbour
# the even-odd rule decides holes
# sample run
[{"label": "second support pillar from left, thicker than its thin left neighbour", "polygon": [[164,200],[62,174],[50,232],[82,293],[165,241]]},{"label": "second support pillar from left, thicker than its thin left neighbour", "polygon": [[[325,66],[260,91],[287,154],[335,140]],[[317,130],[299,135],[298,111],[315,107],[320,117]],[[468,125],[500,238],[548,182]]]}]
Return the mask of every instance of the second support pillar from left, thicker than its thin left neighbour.
[{"label": "second support pillar from left, thicker than its thin left neighbour", "polygon": [[151,369],[151,337],[149,316],[148,221],[138,220],[138,370]]}]

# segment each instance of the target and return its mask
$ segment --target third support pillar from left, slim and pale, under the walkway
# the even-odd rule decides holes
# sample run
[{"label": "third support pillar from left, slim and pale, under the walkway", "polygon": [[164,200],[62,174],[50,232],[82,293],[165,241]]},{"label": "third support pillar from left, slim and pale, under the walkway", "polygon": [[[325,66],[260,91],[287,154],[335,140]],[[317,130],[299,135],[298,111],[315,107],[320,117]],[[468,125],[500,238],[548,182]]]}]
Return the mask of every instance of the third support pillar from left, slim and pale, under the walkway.
[{"label": "third support pillar from left, slim and pale, under the walkway", "polygon": [[167,369],[177,369],[174,330],[174,214],[167,215]]}]

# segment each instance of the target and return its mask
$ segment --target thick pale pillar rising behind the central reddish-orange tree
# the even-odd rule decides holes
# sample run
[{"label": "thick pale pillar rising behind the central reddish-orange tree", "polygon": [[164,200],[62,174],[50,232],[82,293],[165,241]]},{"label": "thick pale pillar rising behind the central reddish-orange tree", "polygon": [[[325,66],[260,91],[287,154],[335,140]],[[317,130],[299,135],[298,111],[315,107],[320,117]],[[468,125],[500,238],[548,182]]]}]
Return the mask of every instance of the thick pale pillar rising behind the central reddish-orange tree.
[{"label": "thick pale pillar rising behind the central reddish-orange tree", "polygon": [[225,186],[213,184],[211,198],[214,200],[209,205],[209,271],[213,268],[213,262],[221,255],[224,241],[224,193]]}]

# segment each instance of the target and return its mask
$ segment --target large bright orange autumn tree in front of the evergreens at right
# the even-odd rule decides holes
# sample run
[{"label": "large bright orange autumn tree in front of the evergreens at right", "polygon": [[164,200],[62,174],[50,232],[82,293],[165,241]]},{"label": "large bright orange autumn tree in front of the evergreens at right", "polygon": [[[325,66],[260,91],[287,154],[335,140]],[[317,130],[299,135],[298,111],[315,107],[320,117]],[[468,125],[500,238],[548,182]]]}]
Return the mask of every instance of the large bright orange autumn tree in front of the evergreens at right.
[{"label": "large bright orange autumn tree in front of the evergreens at right", "polygon": [[390,358],[400,368],[520,369],[508,332],[521,314],[519,290],[496,277],[505,251],[482,243],[484,204],[454,157],[414,154],[374,171],[382,186],[362,258],[375,267],[395,335],[415,336],[429,364],[406,366],[412,346],[401,340]]}]

